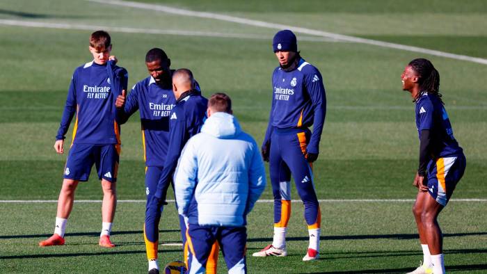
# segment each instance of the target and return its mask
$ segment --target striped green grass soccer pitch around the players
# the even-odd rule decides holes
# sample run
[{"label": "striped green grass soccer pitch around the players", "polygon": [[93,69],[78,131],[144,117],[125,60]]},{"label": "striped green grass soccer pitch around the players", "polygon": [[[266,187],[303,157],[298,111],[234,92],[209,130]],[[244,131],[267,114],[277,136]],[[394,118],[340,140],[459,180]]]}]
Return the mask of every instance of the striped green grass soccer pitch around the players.
[{"label": "striped green grass soccer pitch around the players", "polygon": [[[301,202],[292,204],[289,255],[251,257],[272,241],[272,204],[262,201],[248,216],[248,273],[406,273],[419,265],[422,252],[411,212],[419,142],[414,104],[399,78],[418,57],[429,58],[440,72],[440,92],[467,157],[465,176],[440,214],[446,270],[487,272],[485,1],[141,0],[130,5],[0,3],[0,273],[147,271],[138,113],[122,126],[118,199],[125,202],[118,204],[112,236],[118,246],[97,245],[102,191],[92,172],[90,182],[77,189],[76,199],[85,201],[74,204],[66,245],[38,247],[53,232],[56,202],[49,201],[57,199],[66,155],[57,155],[52,145],[72,72],[90,61],[90,33],[109,31],[112,53],[129,71],[129,86],[147,76],[147,50],[163,48],[171,67],[193,71],[203,95],[230,95],[242,127],[262,143],[271,73],[278,65],[271,40],[283,25],[301,28],[298,49],[319,68],[326,87],[326,123],[314,164],[317,195],[324,200],[321,259],[301,261],[308,247]],[[298,199],[294,187],[292,194]],[[261,199],[271,198],[269,182]],[[174,245],[179,231],[173,203],[164,209],[159,228],[160,264],[182,259]],[[225,271],[220,256],[218,272]]]}]

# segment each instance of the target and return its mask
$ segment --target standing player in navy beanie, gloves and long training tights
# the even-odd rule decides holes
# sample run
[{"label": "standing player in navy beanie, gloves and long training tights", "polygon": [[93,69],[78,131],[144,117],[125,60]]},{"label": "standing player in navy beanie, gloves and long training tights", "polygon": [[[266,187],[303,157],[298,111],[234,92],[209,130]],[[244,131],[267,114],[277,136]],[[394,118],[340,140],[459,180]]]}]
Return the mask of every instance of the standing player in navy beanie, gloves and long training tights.
[{"label": "standing player in navy beanie, gloves and long training tights", "polygon": [[[262,156],[269,161],[274,196],[274,236],[271,245],[254,257],[286,256],[287,223],[291,216],[291,174],[305,207],[310,244],[303,261],[318,259],[321,211],[312,162],[319,154],[319,140],[326,114],[326,94],[321,74],[301,58],[296,35],[279,31],[273,38],[279,61],[272,74],[273,98]],[[313,127],[311,133],[308,127]]]}]

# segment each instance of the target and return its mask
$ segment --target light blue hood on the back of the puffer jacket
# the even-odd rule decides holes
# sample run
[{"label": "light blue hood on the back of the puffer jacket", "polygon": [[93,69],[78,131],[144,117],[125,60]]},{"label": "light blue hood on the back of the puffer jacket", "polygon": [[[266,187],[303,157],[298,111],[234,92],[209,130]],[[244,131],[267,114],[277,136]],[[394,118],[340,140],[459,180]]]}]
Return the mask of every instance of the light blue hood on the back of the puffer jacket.
[{"label": "light blue hood on the back of the puffer jacket", "polygon": [[234,115],[217,112],[209,116],[201,128],[201,132],[216,138],[227,139],[239,135],[241,127]]}]

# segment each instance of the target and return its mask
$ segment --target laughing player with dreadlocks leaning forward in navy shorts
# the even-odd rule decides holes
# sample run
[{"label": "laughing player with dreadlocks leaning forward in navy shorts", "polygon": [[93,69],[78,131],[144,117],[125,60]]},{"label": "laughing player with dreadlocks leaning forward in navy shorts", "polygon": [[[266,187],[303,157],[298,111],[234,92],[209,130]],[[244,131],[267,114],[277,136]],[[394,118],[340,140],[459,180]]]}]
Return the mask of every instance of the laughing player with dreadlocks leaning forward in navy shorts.
[{"label": "laughing player with dreadlocks leaning forward in navy shorts", "polygon": [[401,75],[402,88],[416,103],[416,127],[420,137],[420,165],[413,182],[419,188],[413,206],[423,249],[423,264],[414,274],[445,273],[442,233],[438,214],[452,197],[465,172],[465,155],[458,146],[443,106],[440,74],[426,59],[411,61]]}]

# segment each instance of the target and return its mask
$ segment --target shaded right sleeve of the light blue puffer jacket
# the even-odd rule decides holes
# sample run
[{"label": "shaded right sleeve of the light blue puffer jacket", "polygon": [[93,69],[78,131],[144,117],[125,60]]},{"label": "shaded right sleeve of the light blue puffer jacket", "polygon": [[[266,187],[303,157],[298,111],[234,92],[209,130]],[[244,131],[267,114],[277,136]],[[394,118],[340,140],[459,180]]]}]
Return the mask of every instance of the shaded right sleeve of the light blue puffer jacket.
[{"label": "shaded right sleeve of the light blue puffer jacket", "polygon": [[255,202],[266,188],[266,172],[264,169],[264,162],[260,156],[257,144],[253,144],[253,154],[248,168],[248,200],[246,206],[246,214],[248,214],[254,207]]}]

